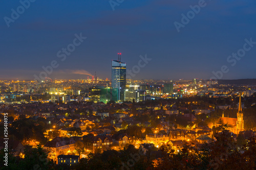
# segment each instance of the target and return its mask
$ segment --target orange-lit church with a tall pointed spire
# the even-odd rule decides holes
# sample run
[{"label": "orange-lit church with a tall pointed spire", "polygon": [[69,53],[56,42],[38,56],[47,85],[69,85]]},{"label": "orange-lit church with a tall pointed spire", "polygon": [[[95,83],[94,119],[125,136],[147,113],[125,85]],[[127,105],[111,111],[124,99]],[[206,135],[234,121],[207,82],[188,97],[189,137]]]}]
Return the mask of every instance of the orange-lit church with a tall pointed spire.
[{"label": "orange-lit church with a tall pointed spire", "polygon": [[243,120],[243,112],[241,105],[241,92],[239,97],[239,108],[237,113],[237,118],[224,117],[224,113],[222,117],[219,118],[216,123],[217,127],[221,125],[227,125],[226,130],[233,132],[234,134],[239,134],[239,132],[244,131],[244,120]]}]

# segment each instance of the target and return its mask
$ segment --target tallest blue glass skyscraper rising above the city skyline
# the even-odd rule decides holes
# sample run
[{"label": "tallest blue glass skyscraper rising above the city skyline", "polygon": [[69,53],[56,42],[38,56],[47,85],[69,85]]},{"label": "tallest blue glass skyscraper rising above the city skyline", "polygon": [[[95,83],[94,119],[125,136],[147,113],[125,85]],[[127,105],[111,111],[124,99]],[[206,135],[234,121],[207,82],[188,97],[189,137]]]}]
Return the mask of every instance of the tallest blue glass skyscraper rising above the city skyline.
[{"label": "tallest blue glass skyscraper rising above the city skyline", "polygon": [[[111,87],[117,89],[117,101],[124,101],[124,90],[126,85],[126,64],[121,61],[112,60]],[[112,94],[113,96],[113,94]]]}]

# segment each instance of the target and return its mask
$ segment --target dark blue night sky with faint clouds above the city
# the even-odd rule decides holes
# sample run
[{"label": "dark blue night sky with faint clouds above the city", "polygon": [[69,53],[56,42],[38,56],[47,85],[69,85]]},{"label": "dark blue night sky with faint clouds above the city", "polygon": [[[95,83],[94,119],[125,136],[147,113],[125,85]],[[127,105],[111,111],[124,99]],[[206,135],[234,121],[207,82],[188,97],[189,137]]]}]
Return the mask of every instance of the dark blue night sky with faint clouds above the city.
[{"label": "dark blue night sky with faint clouds above the city", "polygon": [[[236,63],[227,62],[245,39],[256,42],[256,1],[205,1],[178,32],[174,22],[182,23],[181,14],[200,1],[119,0],[113,10],[108,0],[36,0],[8,28],[4,18],[12,19],[11,9],[21,4],[2,0],[0,79],[33,79],[53,60],[58,67],[48,75],[52,79],[85,79],[95,71],[110,78],[117,53],[127,69],[138,65],[140,55],[152,59],[137,71],[137,80],[209,79],[223,65],[229,71],[222,79],[256,78],[256,44]],[[61,61],[58,51],[80,33],[87,38]]]}]

